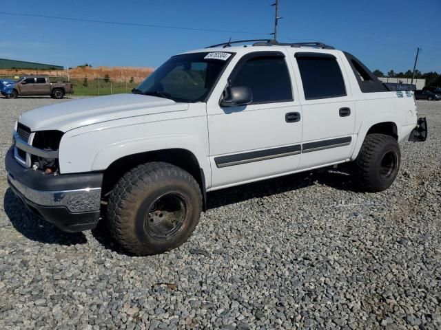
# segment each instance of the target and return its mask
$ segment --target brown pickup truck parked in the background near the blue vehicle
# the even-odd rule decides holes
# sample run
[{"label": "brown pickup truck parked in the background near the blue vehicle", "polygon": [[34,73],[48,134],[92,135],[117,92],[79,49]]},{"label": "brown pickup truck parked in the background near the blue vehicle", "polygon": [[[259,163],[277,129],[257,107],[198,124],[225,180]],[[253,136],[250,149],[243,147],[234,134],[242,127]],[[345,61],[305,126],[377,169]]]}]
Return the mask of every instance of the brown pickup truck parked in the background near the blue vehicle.
[{"label": "brown pickup truck parked in the background near the blue vehicle", "polygon": [[63,98],[65,94],[73,93],[74,85],[72,83],[52,83],[50,79],[45,76],[24,76],[14,83],[14,88],[10,92],[9,98],[38,95]]}]

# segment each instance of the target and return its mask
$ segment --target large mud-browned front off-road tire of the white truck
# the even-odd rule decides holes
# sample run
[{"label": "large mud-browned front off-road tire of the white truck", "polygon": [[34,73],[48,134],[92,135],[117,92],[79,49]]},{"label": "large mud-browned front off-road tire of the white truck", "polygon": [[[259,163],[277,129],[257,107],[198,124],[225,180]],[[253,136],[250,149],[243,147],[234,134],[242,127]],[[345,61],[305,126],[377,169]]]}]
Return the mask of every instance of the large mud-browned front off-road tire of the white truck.
[{"label": "large mud-browned front off-road tire of the white truck", "polygon": [[[152,210],[161,198],[176,198],[181,201],[179,205],[185,205],[180,229],[166,239],[155,236],[151,228],[156,228],[149,227],[148,222],[153,221]],[[192,175],[172,164],[151,162],[132,168],[116,183],[107,204],[107,224],[114,240],[127,252],[138,256],[160,254],[187,241],[201,210],[201,189]],[[163,217],[158,212],[156,215]]]}]

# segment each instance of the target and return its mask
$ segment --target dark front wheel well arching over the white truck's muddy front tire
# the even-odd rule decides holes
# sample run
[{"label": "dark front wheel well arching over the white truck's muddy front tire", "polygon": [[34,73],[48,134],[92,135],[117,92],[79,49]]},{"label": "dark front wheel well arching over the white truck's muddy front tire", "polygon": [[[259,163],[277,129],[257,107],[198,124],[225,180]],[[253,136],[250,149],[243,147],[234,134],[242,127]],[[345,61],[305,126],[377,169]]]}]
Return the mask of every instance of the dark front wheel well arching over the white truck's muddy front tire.
[{"label": "dark front wheel well arching over the white truck's muddy front tire", "polygon": [[132,168],[147,162],[166,162],[178,166],[190,173],[198,182],[203,195],[203,205],[205,210],[205,177],[202,168],[199,166],[198,159],[192,152],[186,149],[172,148],[145,153],[136,153],[116,159],[104,171],[103,175],[103,196],[112,191],[116,182]]}]

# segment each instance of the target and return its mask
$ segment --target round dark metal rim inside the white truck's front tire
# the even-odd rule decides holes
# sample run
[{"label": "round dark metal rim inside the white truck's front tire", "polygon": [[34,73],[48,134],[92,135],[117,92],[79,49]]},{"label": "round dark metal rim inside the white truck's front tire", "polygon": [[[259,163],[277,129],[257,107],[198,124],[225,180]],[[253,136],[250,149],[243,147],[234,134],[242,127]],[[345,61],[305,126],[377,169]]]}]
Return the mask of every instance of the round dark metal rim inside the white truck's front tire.
[{"label": "round dark metal rim inside the white truck's front tire", "polygon": [[170,239],[183,228],[187,210],[187,201],[182,195],[176,192],[162,195],[150,205],[145,214],[145,230],[155,239]]}]

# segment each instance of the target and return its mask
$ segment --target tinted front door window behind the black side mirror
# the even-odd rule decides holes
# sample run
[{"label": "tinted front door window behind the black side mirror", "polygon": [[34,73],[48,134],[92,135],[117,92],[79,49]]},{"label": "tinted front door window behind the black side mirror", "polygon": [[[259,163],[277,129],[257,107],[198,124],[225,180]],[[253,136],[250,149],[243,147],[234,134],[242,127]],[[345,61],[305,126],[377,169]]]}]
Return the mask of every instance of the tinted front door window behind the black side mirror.
[{"label": "tinted front door window behind the black side mirror", "polygon": [[283,56],[250,58],[238,66],[230,84],[251,88],[252,104],[292,100],[291,78]]}]

